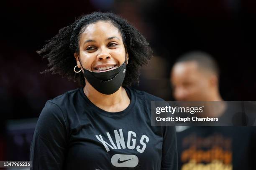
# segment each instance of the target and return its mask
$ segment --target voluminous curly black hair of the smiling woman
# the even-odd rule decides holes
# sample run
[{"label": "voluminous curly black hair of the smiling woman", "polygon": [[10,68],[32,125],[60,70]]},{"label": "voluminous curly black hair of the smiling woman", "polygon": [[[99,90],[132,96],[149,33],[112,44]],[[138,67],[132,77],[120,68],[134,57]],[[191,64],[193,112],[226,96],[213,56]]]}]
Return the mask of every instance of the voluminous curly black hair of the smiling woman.
[{"label": "voluminous curly black hair of the smiling woman", "polygon": [[60,29],[57,35],[51,38],[41,50],[37,51],[39,55],[49,61],[49,68],[41,73],[59,74],[84,86],[84,75],[81,72],[75,73],[73,70],[74,66],[77,65],[74,53],[79,54],[80,34],[84,32],[87,25],[97,21],[110,21],[120,31],[129,54],[123,85],[131,86],[133,83],[138,83],[139,68],[148,64],[153,57],[152,49],[145,37],[136,28],[127,20],[113,13],[95,12],[82,15],[71,25]]}]

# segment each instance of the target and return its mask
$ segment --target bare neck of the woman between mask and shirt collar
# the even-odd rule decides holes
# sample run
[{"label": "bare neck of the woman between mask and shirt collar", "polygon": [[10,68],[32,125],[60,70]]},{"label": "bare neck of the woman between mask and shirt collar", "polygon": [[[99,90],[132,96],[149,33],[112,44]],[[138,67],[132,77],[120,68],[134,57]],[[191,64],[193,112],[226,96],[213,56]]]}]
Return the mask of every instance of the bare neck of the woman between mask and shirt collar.
[{"label": "bare neck of the woman between mask and shirt collar", "polygon": [[123,87],[111,95],[105,95],[95,90],[89,82],[83,88],[84,94],[97,107],[108,112],[119,112],[130,104],[130,99]]}]

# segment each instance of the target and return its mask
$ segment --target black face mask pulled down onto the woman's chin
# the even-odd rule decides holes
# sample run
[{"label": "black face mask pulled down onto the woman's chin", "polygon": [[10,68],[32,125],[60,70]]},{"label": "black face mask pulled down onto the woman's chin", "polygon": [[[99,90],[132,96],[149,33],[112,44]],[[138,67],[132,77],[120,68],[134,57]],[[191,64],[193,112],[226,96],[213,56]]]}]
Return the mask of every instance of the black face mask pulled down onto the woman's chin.
[{"label": "black face mask pulled down onto the woman's chin", "polygon": [[[81,63],[81,62],[80,62]],[[118,68],[105,72],[92,72],[84,70],[84,77],[98,92],[105,95],[111,95],[116,92],[125,78],[126,60]]]}]

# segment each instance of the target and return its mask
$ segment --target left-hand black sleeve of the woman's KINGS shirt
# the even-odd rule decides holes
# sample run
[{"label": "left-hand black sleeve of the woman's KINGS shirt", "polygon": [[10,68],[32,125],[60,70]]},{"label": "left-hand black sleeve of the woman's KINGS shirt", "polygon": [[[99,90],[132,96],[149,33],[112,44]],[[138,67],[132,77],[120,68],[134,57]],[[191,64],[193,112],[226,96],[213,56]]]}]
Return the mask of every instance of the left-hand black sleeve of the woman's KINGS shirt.
[{"label": "left-hand black sleeve of the woman's KINGS shirt", "polygon": [[67,124],[60,107],[46,102],[30,147],[30,170],[61,170],[67,148]]}]

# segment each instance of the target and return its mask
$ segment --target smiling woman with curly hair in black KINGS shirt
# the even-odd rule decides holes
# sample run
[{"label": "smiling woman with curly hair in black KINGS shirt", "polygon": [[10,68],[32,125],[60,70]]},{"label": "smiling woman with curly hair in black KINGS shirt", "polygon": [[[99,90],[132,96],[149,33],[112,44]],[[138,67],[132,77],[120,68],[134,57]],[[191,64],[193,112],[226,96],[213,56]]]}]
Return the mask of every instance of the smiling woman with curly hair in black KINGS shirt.
[{"label": "smiling woman with curly hair in black KINGS shirt", "polygon": [[38,53],[44,72],[82,87],[46,102],[32,170],[177,170],[174,127],[151,126],[151,101],[162,99],[129,87],[152,57],[136,28],[113,13],[83,15]]}]

